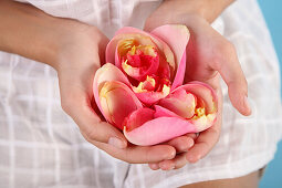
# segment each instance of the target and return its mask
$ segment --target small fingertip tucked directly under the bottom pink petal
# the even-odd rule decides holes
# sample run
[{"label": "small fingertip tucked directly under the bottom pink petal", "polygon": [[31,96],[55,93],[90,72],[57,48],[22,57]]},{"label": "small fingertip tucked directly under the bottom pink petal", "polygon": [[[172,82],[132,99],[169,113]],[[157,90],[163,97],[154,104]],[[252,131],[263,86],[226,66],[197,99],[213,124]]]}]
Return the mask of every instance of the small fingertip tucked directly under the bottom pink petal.
[{"label": "small fingertip tucked directly under the bottom pink petal", "polygon": [[177,153],[187,152],[190,147],[194,145],[194,138],[189,136],[179,136],[177,138],[174,138],[169,142],[167,142],[168,145],[176,148]]}]

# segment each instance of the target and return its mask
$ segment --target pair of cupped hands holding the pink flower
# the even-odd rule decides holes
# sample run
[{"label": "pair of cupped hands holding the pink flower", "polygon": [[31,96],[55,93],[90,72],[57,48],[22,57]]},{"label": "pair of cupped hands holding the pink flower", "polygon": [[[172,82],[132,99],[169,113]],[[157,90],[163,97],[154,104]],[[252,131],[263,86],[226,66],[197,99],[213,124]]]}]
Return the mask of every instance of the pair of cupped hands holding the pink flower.
[{"label": "pair of cupped hands holding the pink flower", "polygon": [[152,31],[168,23],[185,24],[191,34],[186,53],[185,83],[205,82],[218,95],[217,122],[199,135],[187,134],[154,146],[135,146],[126,140],[121,130],[105,122],[93,96],[93,77],[105,63],[104,52],[108,39],[95,27],[73,23],[71,38],[62,43],[63,50],[54,65],[59,75],[62,107],[79,125],[84,138],[115,158],[130,164],[148,164],[154,170],[178,169],[187,163],[196,163],[216,145],[222,114],[220,77],[228,85],[232,105],[242,115],[251,114],[247,98],[248,84],[234,46],[196,14],[175,14],[168,18],[155,11],[146,20],[144,30]]}]

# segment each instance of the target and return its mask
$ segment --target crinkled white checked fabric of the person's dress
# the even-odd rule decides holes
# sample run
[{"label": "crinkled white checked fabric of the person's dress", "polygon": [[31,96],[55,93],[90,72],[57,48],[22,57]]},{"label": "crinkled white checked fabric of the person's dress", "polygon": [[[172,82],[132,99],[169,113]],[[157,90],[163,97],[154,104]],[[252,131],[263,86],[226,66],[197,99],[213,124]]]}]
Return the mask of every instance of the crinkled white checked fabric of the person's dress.
[{"label": "crinkled white checked fabric of the person's dress", "polygon": [[[142,28],[157,0],[29,0],[55,17],[98,27],[108,36],[121,27]],[[0,187],[178,187],[233,178],[267,165],[282,136],[279,64],[254,0],[238,0],[217,20],[237,48],[249,82],[251,117],[230,104],[222,83],[220,140],[197,164],[173,171],[117,160],[86,143],[61,109],[56,73],[48,65],[0,52]]]}]

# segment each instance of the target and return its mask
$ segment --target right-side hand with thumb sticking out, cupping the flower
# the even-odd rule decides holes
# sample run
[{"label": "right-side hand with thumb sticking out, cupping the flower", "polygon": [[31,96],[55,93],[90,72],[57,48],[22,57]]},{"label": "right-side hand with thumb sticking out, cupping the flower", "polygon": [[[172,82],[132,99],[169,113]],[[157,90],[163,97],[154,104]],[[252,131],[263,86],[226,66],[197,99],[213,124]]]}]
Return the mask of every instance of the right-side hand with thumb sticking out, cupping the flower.
[{"label": "right-side hand with thumb sticking out, cupping the flower", "polygon": [[[174,10],[174,12],[169,12]],[[178,150],[178,155],[170,160],[150,164],[152,169],[180,168],[188,161],[196,163],[205,157],[216,145],[220,135],[222,114],[222,93],[219,84],[219,76],[228,85],[229,97],[232,105],[242,114],[250,115],[248,84],[240,63],[237,58],[234,46],[201,17],[197,14],[179,13],[171,7],[160,7],[146,21],[145,30],[150,31],[161,24],[175,23],[185,24],[191,32],[187,46],[187,70],[185,82],[201,81],[210,84],[218,93],[219,116],[216,124],[197,137],[195,134],[186,135],[195,139],[195,145],[187,150]],[[167,15],[174,14],[174,18]],[[157,20],[157,21],[156,21]]]}]

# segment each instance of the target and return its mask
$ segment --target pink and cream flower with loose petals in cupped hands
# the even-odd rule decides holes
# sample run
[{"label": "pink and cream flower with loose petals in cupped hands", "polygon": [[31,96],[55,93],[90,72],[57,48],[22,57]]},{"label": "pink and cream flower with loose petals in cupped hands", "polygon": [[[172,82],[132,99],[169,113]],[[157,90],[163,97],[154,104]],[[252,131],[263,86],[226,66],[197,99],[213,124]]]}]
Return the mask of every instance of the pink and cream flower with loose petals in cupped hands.
[{"label": "pink and cream flower with loose petals in cupped hands", "polygon": [[123,28],[108,43],[94,97],[130,143],[155,145],[215,123],[215,91],[201,82],[182,85],[188,41],[185,25],[163,25],[152,33]]}]

